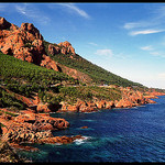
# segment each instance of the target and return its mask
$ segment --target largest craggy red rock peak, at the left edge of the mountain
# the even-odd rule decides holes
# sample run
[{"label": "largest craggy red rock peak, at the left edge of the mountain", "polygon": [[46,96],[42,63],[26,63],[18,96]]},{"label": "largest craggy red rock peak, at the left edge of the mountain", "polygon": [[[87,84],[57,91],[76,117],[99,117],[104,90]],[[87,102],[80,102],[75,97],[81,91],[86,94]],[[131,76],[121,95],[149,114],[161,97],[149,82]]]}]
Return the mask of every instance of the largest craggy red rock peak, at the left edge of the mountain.
[{"label": "largest craggy red rock peak, at the left edge of the mountain", "polygon": [[18,28],[0,18],[0,50],[3,54],[59,72],[56,62],[46,56],[43,36],[32,23]]}]

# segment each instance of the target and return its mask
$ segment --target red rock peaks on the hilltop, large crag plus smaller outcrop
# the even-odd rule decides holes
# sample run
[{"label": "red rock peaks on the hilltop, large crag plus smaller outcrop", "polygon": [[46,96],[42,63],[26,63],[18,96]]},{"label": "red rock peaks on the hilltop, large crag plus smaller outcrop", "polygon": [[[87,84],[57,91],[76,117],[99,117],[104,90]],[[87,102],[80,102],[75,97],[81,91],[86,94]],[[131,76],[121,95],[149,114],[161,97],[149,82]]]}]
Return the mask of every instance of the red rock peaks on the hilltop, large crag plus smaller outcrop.
[{"label": "red rock peaks on the hilltop, large crag plus smaller outcrop", "polygon": [[[13,55],[15,58],[41,65],[56,72],[64,72],[73,78],[88,81],[88,75],[64,66],[64,69],[46,55],[43,44],[43,36],[32,23],[22,23],[21,28],[9,23],[4,18],[0,18],[0,51],[3,54]],[[69,42],[62,42],[58,45],[50,44],[48,53],[75,55],[75,50]]]}]

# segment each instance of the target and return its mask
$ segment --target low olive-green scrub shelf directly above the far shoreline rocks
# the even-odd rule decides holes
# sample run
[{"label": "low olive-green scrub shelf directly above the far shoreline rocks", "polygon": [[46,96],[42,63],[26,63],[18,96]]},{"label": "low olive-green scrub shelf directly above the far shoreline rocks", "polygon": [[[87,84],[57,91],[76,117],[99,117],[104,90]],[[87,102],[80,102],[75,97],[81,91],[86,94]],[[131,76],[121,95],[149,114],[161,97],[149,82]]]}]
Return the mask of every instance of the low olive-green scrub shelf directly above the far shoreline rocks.
[{"label": "low olive-green scrub shelf directly above the far shoreline rocks", "polygon": [[121,91],[119,89],[102,88],[97,86],[79,86],[79,87],[59,87],[58,91],[41,91],[40,97],[44,102],[58,105],[66,101],[74,105],[78,99],[84,101],[94,101],[95,99],[120,100]]}]

